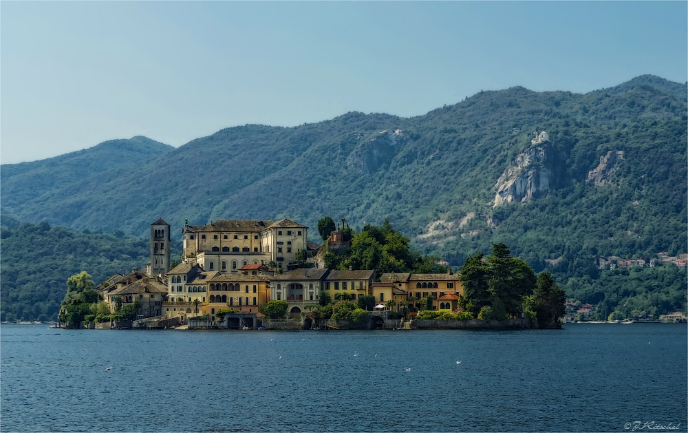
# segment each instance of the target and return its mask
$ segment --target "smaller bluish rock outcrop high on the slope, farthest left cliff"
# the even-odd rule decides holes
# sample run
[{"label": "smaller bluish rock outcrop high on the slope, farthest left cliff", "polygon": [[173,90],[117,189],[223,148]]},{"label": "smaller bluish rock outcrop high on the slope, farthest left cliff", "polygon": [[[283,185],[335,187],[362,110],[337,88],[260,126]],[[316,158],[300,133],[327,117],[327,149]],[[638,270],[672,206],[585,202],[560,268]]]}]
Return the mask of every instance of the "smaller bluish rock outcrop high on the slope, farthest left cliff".
[{"label": "smaller bluish rock outcrop high on the slope, farthest left cliff", "polygon": [[409,141],[402,131],[382,131],[378,136],[361,142],[347,158],[347,166],[361,173],[374,173],[389,163],[399,145]]}]

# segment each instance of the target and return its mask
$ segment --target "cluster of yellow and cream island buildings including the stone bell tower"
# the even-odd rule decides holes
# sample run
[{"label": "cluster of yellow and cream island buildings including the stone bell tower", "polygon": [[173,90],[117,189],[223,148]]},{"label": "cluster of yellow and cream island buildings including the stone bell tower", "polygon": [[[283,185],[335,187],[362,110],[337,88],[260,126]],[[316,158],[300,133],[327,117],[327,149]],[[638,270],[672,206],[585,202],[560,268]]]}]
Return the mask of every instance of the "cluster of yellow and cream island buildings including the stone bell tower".
[{"label": "cluster of yellow and cream island buildings including the stone bell tower", "polygon": [[[110,311],[137,303],[140,320],[183,325],[192,317],[212,322],[228,316],[237,327],[255,328],[265,319],[261,307],[278,300],[288,304],[288,317],[303,319],[308,327],[312,322],[302,313],[322,296],[353,302],[372,297],[377,310],[396,312],[426,306],[431,298],[432,310],[451,313],[464,294],[451,271],[377,278],[374,270],[331,270],[324,266],[321,246],[308,242],[308,227],[286,219],[185,222],[182,242],[181,262],[172,262],[171,226],[162,218],[153,222],[146,271],[133,268],[95,288]],[[350,242],[337,226],[323,245],[342,251]]]}]

